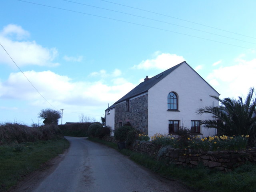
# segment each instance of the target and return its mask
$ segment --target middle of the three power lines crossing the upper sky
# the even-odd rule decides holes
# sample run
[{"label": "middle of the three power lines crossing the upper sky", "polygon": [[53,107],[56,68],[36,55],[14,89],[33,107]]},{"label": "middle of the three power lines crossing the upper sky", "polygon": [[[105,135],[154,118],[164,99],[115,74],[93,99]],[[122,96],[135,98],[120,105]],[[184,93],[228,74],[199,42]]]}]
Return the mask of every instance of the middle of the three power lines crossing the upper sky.
[{"label": "middle of the three power lines crossing the upper sky", "polygon": [[63,1],[71,2],[71,3],[75,3],[75,4],[80,4],[80,5],[84,5],[84,6],[89,6],[89,7],[94,7],[94,8],[98,8],[98,9],[108,10],[108,11],[112,11],[112,12],[122,13],[122,14],[135,16],[135,17],[139,17],[139,18],[144,18],[144,19],[148,19],[148,20],[152,20],[152,21],[162,22],[162,23],[165,23],[165,24],[170,24],[170,25],[174,25],[174,26],[183,27],[183,28],[186,28],[186,29],[196,30],[196,31],[200,31],[200,32],[204,32],[204,33],[208,33],[208,34],[212,34],[212,35],[216,35],[216,36],[220,36],[220,37],[225,37],[225,38],[229,38],[229,39],[233,39],[233,40],[237,40],[237,41],[256,44],[256,43],[253,43],[253,42],[244,41],[244,40],[240,40],[240,39],[236,39],[236,38],[232,38],[232,37],[228,37],[228,36],[224,36],[224,35],[220,35],[220,34],[216,34],[216,33],[212,33],[212,32],[207,32],[207,31],[203,31],[203,30],[199,30],[199,29],[195,29],[195,28],[190,28],[190,27],[186,27],[186,26],[182,26],[182,25],[178,25],[178,24],[174,24],[174,23],[170,23],[170,22],[165,22],[165,21],[161,21],[161,20],[157,20],[157,19],[152,19],[152,18],[143,17],[143,16],[139,16],[139,15],[134,15],[134,14],[130,14],[130,13],[125,13],[125,12],[121,12],[121,11],[116,11],[116,10],[112,10],[112,9],[102,8],[102,7],[98,7],[98,6],[92,6],[92,5],[88,5],[88,4],[84,4],[84,3],[78,3],[78,2],[74,2],[74,1],[70,1],[70,0],[63,0]]}]

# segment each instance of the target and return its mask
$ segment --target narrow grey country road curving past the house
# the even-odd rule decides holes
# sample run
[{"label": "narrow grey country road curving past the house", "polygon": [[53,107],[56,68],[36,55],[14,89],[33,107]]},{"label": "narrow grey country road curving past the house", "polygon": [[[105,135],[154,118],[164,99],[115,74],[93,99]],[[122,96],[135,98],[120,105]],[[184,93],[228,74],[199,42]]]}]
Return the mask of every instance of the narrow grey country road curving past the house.
[{"label": "narrow grey country road curving past the house", "polygon": [[188,192],[129,160],[116,150],[86,138],[66,137],[70,149],[34,192]]}]

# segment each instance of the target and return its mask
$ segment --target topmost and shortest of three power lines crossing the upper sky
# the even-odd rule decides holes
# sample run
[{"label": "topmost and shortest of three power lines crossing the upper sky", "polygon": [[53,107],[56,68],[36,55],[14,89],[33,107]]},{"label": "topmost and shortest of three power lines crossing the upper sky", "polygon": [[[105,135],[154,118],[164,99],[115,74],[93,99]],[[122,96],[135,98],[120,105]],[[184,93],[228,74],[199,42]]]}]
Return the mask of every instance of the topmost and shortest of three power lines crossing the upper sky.
[{"label": "topmost and shortest of three power lines crossing the upper sky", "polygon": [[236,33],[236,32],[232,32],[232,31],[228,31],[228,30],[224,30],[224,29],[220,29],[220,28],[212,27],[212,26],[209,26],[209,25],[200,24],[200,23],[197,23],[197,22],[193,22],[193,21],[189,21],[189,20],[181,19],[181,18],[178,18],[178,17],[169,16],[169,15],[166,15],[166,14],[161,14],[161,13],[157,13],[157,12],[153,12],[153,11],[149,11],[149,10],[144,10],[144,9],[140,9],[140,8],[136,8],[136,7],[132,7],[132,6],[127,6],[127,5],[119,4],[119,3],[115,3],[115,2],[110,2],[110,1],[106,1],[106,0],[100,0],[100,1],[108,2],[108,3],[112,3],[112,4],[116,4],[116,5],[124,6],[124,7],[129,7],[129,8],[133,8],[133,9],[137,9],[137,10],[141,10],[141,11],[149,12],[149,13],[154,13],[154,14],[158,14],[158,15],[162,15],[162,16],[166,16],[166,17],[170,17],[170,18],[178,19],[178,20],[181,20],[181,21],[186,21],[186,22],[190,22],[190,23],[197,24],[197,25],[201,25],[201,26],[209,27],[209,28],[212,28],[212,29],[217,29],[217,30],[221,30],[221,31],[224,31],[224,32],[229,32],[229,33],[233,33],[233,34],[237,34],[237,35],[241,35],[241,36],[245,36],[245,37],[249,37],[249,38],[256,39],[255,37],[251,37],[251,36],[247,36],[247,35],[239,34],[239,33]]}]

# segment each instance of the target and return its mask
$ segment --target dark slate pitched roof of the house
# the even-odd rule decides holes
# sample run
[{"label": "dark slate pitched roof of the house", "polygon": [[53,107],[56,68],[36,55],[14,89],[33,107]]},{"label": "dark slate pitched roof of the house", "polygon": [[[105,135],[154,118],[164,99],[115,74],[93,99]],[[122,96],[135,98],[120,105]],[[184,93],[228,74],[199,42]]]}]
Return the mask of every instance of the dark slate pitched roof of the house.
[{"label": "dark slate pitched roof of the house", "polygon": [[[112,106],[110,106],[108,109],[106,110],[109,110],[111,108],[114,108],[114,105],[115,104],[118,104],[122,101],[125,101],[129,98],[132,98],[132,97],[135,97],[135,96],[138,96],[140,94],[143,94],[143,93],[146,93],[148,92],[148,90],[154,86],[155,84],[157,84],[159,81],[161,81],[163,78],[165,78],[168,74],[170,74],[171,72],[173,72],[176,68],[178,68],[179,66],[181,66],[182,64],[187,64],[186,61],[184,62],[181,62],[180,64],[176,65],[176,66],[173,66],[172,68],[168,69],[168,70],[165,70],[164,72],[161,72],[160,74],[157,74],[156,76],[140,83],[138,86],[136,86],[134,89],[132,89],[130,92],[128,92],[125,96],[123,96],[122,98],[120,98],[117,102],[115,102]],[[187,64],[189,66],[189,64]],[[189,66],[190,67],[190,66]],[[194,72],[196,72],[192,67],[190,67]],[[198,74],[196,72],[196,74]],[[198,76],[200,76],[198,74]],[[200,78],[202,78],[200,76]],[[204,80],[204,78],[202,78]],[[206,80],[204,80],[206,82]],[[208,82],[206,82],[208,84]],[[210,86],[210,84],[208,84]],[[210,86],[213,90],[215,90],[212,86]],[[215,90],[216,91],[216,90]],[[217,91],[216,91],[217,92]],[[217,92],[218,93],[218,92]],[[219,93],[218,93],[219,94]],[[219,94],[220,95],[220,94]]]}]

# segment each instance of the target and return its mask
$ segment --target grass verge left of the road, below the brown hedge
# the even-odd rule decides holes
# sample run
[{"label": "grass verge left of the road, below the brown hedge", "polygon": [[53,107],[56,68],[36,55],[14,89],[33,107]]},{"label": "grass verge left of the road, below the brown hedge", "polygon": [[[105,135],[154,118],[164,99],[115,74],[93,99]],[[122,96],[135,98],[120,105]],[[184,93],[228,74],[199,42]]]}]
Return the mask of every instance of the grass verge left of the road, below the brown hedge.
[{"label": "grass verge left of the road, below the brown hedge", "polygon": [[29,173],[62,154],[69,147],[66,139],[24,142],[0,146],[0,192],[8,190]]}]

